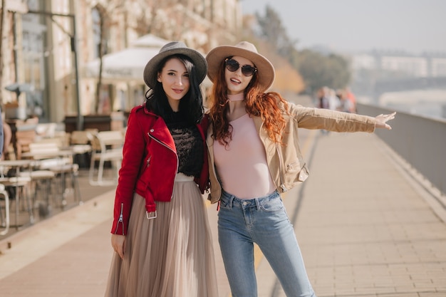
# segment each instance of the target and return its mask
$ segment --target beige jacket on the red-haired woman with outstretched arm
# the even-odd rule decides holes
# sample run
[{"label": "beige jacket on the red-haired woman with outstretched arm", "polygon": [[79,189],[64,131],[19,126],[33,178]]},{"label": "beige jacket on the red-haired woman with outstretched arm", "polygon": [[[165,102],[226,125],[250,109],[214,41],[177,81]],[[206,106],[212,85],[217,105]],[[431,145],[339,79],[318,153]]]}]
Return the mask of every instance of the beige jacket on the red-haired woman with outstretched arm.
[{"label": "beige jacket on the red-haired woman with outstretched arm", "polygon": [[[301,105],[288,103],[289,115],[284,113],[286,127],[282,142],[276,144],[268,137],[262,128],[263,121],[254,117],[256,130],[265,147],[266,161],[269,172],[279,193],[284,193],[308,177],[308,168],[299,147],[298,128],[324,129],[334,132],[374,132],[375,118],[367,115],[342,113],[335,110],[321,108],[305,108]],[[211,182],[208,199],[211,203],[219,201],[222,195],[222,185],[217,178],[214,165],[214,140],[212,139],[212,125],[207,130],[207,148],[209,159],[209,179]]]}]

